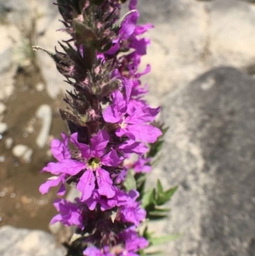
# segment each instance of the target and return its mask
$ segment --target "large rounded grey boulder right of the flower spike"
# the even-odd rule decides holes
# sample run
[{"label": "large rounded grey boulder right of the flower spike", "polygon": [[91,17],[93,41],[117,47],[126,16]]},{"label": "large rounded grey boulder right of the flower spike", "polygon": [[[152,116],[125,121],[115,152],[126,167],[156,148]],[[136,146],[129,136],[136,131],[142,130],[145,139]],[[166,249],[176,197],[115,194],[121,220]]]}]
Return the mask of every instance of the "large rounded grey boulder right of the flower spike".
[{"label": "large rounded grey boulder right of the flower spike", "polygon": [[166,255],[254,255],[254,98],[254,80],[232,67],[212,69],[165,98],[161,120],[169,130],[152,179],[178,185],[161,228],[182,234]]}]

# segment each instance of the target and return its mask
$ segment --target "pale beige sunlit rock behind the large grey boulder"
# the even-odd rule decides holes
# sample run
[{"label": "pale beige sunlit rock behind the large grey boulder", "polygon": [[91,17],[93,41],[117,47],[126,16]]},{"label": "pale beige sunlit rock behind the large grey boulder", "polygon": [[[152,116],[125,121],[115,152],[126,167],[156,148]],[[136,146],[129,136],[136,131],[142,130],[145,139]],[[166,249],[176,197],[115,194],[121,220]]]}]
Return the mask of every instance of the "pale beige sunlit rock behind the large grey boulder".
[{"label": "pale beige sunlit rock behind the large grey boulder", "polygon": [[[233,0],[139,0],[140,23],[155,25],[143,63],[151,94],[165,94],[218,65],[246,71],[255,53],[255,9]],[[156,56],[156,58],[155,58]]]}]

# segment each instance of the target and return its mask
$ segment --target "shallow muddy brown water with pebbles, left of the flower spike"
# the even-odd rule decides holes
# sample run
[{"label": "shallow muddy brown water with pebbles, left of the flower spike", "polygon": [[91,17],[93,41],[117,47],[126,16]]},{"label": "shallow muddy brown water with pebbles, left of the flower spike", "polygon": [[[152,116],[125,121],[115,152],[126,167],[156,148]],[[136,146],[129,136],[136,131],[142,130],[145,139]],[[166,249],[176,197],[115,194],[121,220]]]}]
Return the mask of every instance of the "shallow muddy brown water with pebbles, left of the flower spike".
[{"label": "shallow muddy brown water with pebbles, left of the flower spike", "polygon": [[[8,130],[0,135],[0,226],[48,230],[48,223],[56,213],[52,202],[57,189],[42,196],[38,187],[49,176],[40,174],[40,170],[54,160],[49,154],[50,139],[59,138],[59,134],[67,129],[58,111],[63,95],[57,100],[50,99],[45,90],[37,91],[38,82],[42,82],[42,77],[36,68],[17,71],[14,94],[3,102],[7,107],[3,122],[8,124]],[[53,120],[48,143],[39,149],[35,140],[41,121],[36,118],[36,111],[42,104],[52,107]],[[14,140],[11,148],[6,147],[8,138]],[[12,148],[18,144],[32,149],[30,163],[13,155]]]}]

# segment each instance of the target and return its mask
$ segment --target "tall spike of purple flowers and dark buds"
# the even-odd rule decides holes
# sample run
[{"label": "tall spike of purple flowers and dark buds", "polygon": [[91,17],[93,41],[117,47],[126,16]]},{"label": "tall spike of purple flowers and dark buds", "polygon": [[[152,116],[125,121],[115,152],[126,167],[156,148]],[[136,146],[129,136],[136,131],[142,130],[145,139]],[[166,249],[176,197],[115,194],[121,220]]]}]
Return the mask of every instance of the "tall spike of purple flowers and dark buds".
[{"label": "tall spike of purple flowers and dark buds", "polygon": [[[81,196],[76,202],[57,199],[58,214],[52,223],[76,225],[84,255],[135,256],[149,242],[137,227],[146,217],[139,192],[127,191],[127,169],[150,172],[148,145],[161,135],[151,125],[160,108],[143,99],[147,93],[139,72],[141,57],[150,41],[140,36],[151,25],[138,25],[137,0],[120,18],[116,0],[58,0],[62,23],[71,39],[59,43],[63,52],[48,53],[59,72],[74,88],[68,107],[60,110],[71,135],[53,139],[51,151],[57,162],[42,168],[54,176],[40,186],[42,194],[59,185],[73,184]],[[136,155],[137,160],[126,160]]]}]

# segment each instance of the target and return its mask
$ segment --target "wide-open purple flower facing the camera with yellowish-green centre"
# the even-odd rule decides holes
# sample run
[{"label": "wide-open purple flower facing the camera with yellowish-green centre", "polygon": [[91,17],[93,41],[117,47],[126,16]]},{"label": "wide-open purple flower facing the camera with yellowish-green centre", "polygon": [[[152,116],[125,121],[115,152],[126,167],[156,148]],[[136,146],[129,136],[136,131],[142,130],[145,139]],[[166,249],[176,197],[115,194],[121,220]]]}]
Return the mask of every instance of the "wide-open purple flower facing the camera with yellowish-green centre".
[{"label": "wide-open purple flower facing the camera with yellowish-green centre", "polygon": [[[64,183],[65,175],[76,175],[83,170],[83,174],[77,183],[77,189],[82,192],[82,200],[85,201],[91,196],[95,188],[95,179],[99,186],[99,194],[111,198],[115,195],[110,174],[102,168],[102,166],[117,167],[122,159],[117,156],[116,151],[111,150],[106,152],[106,146],[109,142],[109,135],[104,130],[99,131],[92,139],[90,146],[79,143],[77,140],[77,133],[71,135],[71,142],[80,150],[80,158],[82,161],[71,159],[71,154],[67,149],[67,139],[65,137],[64,143],[58,139],[52,142],[51,150],[53,155],[59,162],[49,162],[48,165],[42,169],[54,175],[59,175],[54,179],[41,185],[40,191],[42,193],[48,192],[50,186]],[[65,146],[66,145],[66,146]],[[96,177],[95,177],[96,176]],[[63,193],[59,191],[60,195]]]}]

